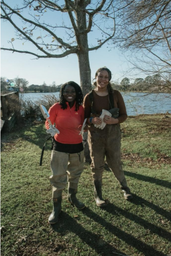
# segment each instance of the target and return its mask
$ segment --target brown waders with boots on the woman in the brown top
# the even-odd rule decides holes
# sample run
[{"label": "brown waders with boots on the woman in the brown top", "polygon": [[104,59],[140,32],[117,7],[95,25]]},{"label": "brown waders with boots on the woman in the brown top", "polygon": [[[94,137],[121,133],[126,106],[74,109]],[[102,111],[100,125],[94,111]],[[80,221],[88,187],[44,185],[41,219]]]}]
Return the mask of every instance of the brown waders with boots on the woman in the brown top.
[{"label": "brown waders with boots on the woman in the brown top", "polygon": [[[104,158],[110,170],[120,184],[125,199],[132,199],[127,186],[122,163],[120,159],[121,131],[120,124],[106,125],[103,130],[91,125],[88,131],[88,145],[92,159],[91,169],[94,182],[94,197],[97,206],[105,206],[102,198],[102,175],[104,171]],[[98,181],[98,182],[97,182]]]}]

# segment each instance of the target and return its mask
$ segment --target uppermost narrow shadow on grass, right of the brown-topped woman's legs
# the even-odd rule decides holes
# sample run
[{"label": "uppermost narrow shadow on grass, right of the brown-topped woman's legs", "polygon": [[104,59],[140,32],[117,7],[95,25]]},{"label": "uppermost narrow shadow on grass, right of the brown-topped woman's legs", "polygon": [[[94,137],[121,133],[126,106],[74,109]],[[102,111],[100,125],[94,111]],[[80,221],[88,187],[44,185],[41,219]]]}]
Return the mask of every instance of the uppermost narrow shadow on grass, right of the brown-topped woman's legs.
[{"label": "uppermost narrow shadow on grass, right of the brown-topped woman's legs", "polygon": [[162,187],[166,187],[166,188],[171,189],[171,182],[169,182],[169,181],[159,180],[159,179],[156,179],[156,178],[152,178],[152,177],[145,176],[145,175],[142,175],[142,174],[137,174],[137,173],[134,173],[134,172],[124,171],[124,173],[127,176],[132,177],[134,179],[148,181],[150,183],[154,183],[156,185],[160,185]]}]

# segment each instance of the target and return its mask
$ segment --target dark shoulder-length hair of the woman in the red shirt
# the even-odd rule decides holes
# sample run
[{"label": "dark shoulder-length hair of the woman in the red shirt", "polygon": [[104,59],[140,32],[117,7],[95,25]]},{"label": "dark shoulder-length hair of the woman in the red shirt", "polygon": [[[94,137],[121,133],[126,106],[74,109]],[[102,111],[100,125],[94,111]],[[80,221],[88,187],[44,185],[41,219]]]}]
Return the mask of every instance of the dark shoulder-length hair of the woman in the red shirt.
[{"label": "dark shoulder-length hair of the woman in the red shirt", "polygon": [[82,92],[81,87],[73,81],[69,81],[62,85],[60,94],[59,94],[59,103],[60,103],[62,109],[67,108],[66,100],[63,97],[64,89],[67,85],[74,87],[74,89],[76,91],[76,100],[75,100],[76,101],[76,109],[75,109],[75,111],[77,111],[79,109],[79,106],[83,104],[83,92]]}]

